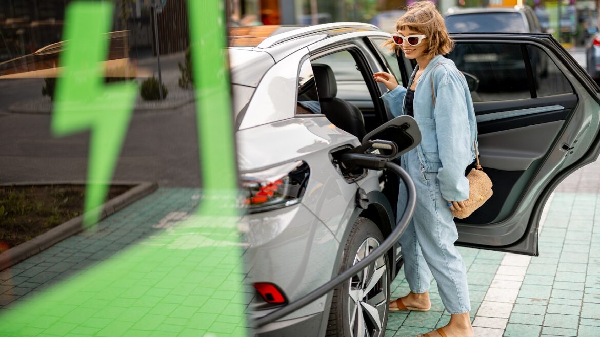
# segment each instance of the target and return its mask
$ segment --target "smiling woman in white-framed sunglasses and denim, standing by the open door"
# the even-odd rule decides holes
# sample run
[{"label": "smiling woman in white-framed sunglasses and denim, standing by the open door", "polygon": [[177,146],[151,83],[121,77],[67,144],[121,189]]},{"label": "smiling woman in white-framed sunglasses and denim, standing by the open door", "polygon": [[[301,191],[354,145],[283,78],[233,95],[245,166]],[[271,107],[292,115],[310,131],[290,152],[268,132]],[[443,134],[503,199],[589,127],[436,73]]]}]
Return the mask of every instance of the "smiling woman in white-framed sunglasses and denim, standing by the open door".
[{"label": "smiling woman in white-framed sunglasses and denim, standing by the open door", "polygon": [[[473,142],[477,124],[473,102],[463,74],[454,62],[443,58],[454,47],[444,21],[433,3],[416,2],[398,19],[398,34],[389,44],[417,66],[409,89],[399,86],[388,73],[374,80],[389,89],[382,96],[395,116],[413,116],[421,129],[421,143],[400,158],[401,166],[415,182],[415,215],[400,238],[404,273],[410,293],[389,303],[390,311],[428,311],[431,306],[431,274],[442,302],[452,316],[448,325],[427,337],[469,337],[470,301],[463,258],[454,246],[458,232],[452,210],[464,207],[469,180],[464,172],[475,158]],[[406,205],[400,188],[398,212]]]}]

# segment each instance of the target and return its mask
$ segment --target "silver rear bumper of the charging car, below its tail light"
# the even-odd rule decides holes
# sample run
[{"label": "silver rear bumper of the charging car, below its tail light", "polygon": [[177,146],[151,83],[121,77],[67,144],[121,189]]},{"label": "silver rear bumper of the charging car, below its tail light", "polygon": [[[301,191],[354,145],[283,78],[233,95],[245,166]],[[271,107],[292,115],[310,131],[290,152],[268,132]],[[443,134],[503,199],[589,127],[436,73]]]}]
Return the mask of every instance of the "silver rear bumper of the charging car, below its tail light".
[{"label": "silver rear bumper of the charging car, below its tail light", "polygon": [[[340,244],[304,205],[245,215],[241,226],[247,246],[244,252],[247,284],[271,282],[283,291],[288,302],[293,302],[337,274],[334,269]],[[322,314],[326,302],[327,296],[323,296],[280,321],[268,324],[263,330],[275,331],[276,326],[295,325]],[[256,318],[276,309],[259,294],[254,294],[248,314]],[[293,323],[296,319],[298,321]],[[288,323],[282,323],[286,321]]]}]

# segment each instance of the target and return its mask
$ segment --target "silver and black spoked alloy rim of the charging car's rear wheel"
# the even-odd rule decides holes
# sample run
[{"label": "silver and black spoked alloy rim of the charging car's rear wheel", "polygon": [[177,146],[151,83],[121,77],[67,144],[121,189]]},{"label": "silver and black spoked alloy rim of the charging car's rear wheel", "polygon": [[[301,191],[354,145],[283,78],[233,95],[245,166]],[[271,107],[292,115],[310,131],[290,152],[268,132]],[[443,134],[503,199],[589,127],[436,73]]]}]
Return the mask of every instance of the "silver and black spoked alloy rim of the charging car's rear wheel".
[{"label": "silver and black spoked alloy rim of the charging car's rear wheel", "polygon": [[[365,239],[358,248],[356,264],[379,247],[374,237]],[[388,308],[388,269],[382,256],[350,280],[348,314],[352,337],[376,337],[385,331],[383,321]]]}]

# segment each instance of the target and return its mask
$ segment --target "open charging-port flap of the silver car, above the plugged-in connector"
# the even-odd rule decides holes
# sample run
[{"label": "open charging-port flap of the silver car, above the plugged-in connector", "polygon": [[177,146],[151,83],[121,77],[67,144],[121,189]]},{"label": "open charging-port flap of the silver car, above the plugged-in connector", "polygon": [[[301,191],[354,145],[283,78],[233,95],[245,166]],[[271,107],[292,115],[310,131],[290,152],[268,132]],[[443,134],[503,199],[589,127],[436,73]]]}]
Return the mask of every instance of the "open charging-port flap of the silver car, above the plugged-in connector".
[{"label": "open charging-port flap of the silver car, above the plugged-in connector", "polygon": [[414,118],[399,116],[368,133],[362,139],[363,144],[374,140],[384,140],[395,143],[397,156],[404,154],[421,143],[421,130]]}]

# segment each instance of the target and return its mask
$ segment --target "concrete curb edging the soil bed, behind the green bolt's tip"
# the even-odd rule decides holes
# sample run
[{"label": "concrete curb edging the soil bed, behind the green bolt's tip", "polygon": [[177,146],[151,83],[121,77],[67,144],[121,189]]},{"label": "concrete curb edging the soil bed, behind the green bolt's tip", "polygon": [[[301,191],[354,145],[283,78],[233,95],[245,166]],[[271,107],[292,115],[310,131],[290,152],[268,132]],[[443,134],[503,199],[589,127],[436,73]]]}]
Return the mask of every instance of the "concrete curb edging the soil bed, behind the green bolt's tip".
[{"label": "concrete curb edging the soil bed, behind the green bolt's tip", "polygon": [[[74,185],[72,182],[67,184]],[[31,184],[19,183],[16,185]],[[37,185],[48,184],[37,183]],[[125,185],[125,183],[117,183],[115,185]],[[155,182],[137,183],[137,186],[135,186],[134,188],[131,188],[127,192],[110,199],[102,206],[100,206],[102,208],[100,220],[105,219],[107,216],[112,215],[121,209],[124,209],[128,205],[134,203],[137,200],[140,200],[148,194],[151,194],[157,189],[158,185]],[[7,269],[8,267],[14,266],[20,261],[23,261],[26,258],[37,254],[38,252],[50,248],[51,246],[55,245],[58,242],[61,242],[64,239],[67,239],[67,237],[70,237],[73,234],[77,234],[80,231],[83,231],[82,221],[83,215],[79,215],[76,218],[68,220],[67,222],[63,222],[62,224],[52,228],[46,233],[40,234],[29,241],[23,242],[20,245],[10,248],[7,251],[3,252],[2,254],[0,254],[0,271]]]}]

